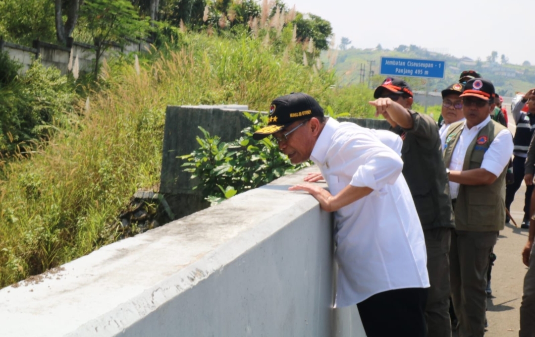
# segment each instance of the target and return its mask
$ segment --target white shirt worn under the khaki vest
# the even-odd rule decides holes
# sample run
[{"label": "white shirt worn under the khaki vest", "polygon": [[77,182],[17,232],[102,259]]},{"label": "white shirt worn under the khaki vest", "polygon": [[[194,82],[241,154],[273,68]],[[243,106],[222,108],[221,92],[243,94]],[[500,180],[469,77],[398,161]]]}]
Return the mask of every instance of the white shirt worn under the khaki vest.
[{"label": "white shirt worn under the khaki vest", "polygon": [[[491,122],[491,117],[488,116],[484,121],[478,125],[468,128],[466,121],[459,140],[455,145],[455,149],[452,154],[452,161],[449,163],[449,169],[452,171],[462,171],[464,165],[464,156],[467,154],[467,149],[473,139],[477,136],[479,131]],[[483,162],[481,168],[491,172],[496,177],[500,177],[503,169],[509,163],[511,155],[513,155],[513,135],[508,129],[502,130],[496,135],[492,141],[490,147],[483,155]],[[457,198],[459,195],[460,185],[456,182],[449,182],[449,193],[452,195],[452,199]]]}]

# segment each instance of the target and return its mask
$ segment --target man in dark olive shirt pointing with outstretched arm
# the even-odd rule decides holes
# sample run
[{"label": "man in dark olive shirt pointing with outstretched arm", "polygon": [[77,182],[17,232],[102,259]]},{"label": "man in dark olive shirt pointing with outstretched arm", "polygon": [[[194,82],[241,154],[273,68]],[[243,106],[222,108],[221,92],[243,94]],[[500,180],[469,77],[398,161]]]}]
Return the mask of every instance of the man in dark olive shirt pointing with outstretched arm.
[{"label": "man in dark olive shirt pointing with outstretched arm", "polygon": [[448,253],[455,224],[438,126],[430,116],[409,110],[412,90],[406,81],[387,78],[376,88],[373,97],[377,99],[370,104],[376,106],[392,131],[403,139],[403,177],[416,205],[427,249],[431,288],[425,316],[429,335],[449,337]]}]

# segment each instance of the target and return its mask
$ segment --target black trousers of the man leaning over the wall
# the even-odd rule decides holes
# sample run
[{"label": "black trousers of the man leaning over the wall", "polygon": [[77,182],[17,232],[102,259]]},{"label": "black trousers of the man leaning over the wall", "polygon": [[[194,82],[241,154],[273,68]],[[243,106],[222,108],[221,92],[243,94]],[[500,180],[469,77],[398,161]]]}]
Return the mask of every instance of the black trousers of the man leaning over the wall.
[{"label": "black trousers of the man leaning over the wall", "polygon": [[368,337],[427,337],[428,288],[388,290],[357,304]]}]

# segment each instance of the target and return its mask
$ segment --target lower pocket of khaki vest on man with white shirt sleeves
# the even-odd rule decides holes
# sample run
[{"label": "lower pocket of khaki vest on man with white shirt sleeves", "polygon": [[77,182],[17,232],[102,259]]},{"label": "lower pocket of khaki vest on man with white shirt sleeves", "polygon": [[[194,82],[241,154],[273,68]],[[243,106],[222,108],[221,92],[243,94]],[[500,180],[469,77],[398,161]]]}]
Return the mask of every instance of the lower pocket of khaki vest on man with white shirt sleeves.
[{"label": "lower pocket of khaki vest on man with white shirt sleeves", "polygon": [[498,196],[472,192],[468,194],[468,225],[477,227],[495,227]]}]

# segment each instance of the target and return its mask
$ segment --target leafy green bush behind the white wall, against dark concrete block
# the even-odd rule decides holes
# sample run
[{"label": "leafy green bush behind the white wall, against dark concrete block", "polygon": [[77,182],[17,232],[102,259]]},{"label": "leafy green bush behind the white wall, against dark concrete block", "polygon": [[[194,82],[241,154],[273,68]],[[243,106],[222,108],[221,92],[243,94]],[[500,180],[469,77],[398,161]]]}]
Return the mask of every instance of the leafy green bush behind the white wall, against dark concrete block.
[{"label": "leafy green bush behind the white wall, against dark concrete block", "polygon": [[184,171],[192,173],[192,179],[199,180],[194,189],[202,190],[212,204],[310,166],[309,163],[292,165],[270,137],[254,140],[253,133],[268,124],[267,116],[244,114],[253,125],[241,131],[240,139],[221,142],[218,136],[210,136],[199,127],[204,135],[204,139],[197,136],[200,147],[189,155],[180,156],[188,160],[182,165],[187,167]]}]

